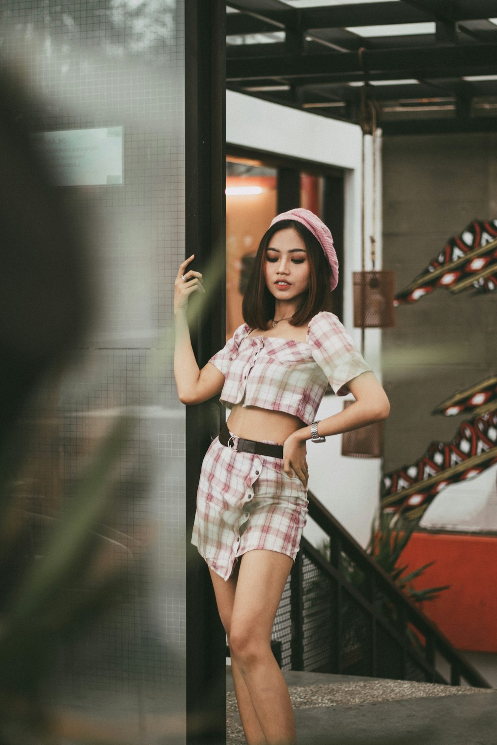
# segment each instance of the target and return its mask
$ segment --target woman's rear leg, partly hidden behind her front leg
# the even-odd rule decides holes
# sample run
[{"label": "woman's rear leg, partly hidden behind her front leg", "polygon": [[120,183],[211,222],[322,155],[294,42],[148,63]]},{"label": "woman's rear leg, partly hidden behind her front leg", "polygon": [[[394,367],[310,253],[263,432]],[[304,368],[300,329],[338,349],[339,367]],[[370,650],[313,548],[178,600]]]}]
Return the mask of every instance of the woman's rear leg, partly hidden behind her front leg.
[{"label": "woman's rear leg, partly hidden behind her front leg", "polygon": [[[218,605],[219,615],[221,617],[221,623],[224,626],[224,630],[228,635],[228,642],[230,637],[231,628],[231,616],[233,610],[233,603],[235,602],[235,590],[236,583],[238,580],[238,570],[240,567],[240,561],[238,566],[233,571],[229,580],[224,580],[215,571],[209,568],[209,572],[212,578],[212,585],[214,586],[214,592],[216,597],[216,603]],[[248,745],[266,745],[266,738],[262,732],[259,719],[257,718],[256,711],[252,706],[249,692],[247,691],[247,685],[245,684],[244,678],[238,669],[236,660],[231,658],[231,670],[233,676],[233,685],[235,685],[236,701],[238,703],[238,711],[240,712],[241,724],[244,728],[245,739]]]}]

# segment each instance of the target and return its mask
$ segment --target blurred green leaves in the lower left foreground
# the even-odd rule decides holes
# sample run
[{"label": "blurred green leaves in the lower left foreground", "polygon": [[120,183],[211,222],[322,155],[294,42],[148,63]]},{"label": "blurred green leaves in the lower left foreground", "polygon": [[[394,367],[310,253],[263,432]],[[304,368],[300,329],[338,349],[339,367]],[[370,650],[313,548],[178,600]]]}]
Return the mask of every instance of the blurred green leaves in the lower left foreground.
[{"label": "blurred green leaves in the lower left foreground", "polygon": [[42,530],[42,516],[7,500],[7,514],[1,516],[2,548],[7,550],[0,553],[2,745],[45,742],[51,716],[42,703],[42,687],[60,646],[85,633],[127,595],[129,565],[102,562],[97,531],[115,490],[115,465],[129,431],[130,422],[118,419],[59,514],[44,521]]}]

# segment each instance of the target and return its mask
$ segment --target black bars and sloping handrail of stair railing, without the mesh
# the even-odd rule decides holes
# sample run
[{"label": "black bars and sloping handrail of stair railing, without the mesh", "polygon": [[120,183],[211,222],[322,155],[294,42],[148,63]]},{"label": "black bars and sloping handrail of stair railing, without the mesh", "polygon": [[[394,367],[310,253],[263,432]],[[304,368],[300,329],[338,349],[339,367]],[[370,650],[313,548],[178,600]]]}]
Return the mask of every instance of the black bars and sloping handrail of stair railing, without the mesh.
[{"label": "black bars and sloping handrail of stair railing, without the mesh", "polygon": [[[347,631],[341,619],[344,603],[346,600],[353,600],[368,619],[367,664],[361,674],[371,677],[385,676],[382,674],[385,671],[384,659],[379,653],[379,637],[383,634],[401,650],[396,661],[396,674],[388,672],[388,677],[408,679],[407,663],[410,661],[423,672],[428,682],[460,685],[461,679],[464,679],[469,685],[477,688],[491,688],[480,673],[460,656],[458,650],[440,633],[440,630],[408,600],[311,492],[308,493],[308,499],[308,515],[329,536],[331,556],[330,561],[327,561],[305,538],[302,539],[300,552],[291,571],[291,669],[304,669],[306,638],[303,633],[303,562],[308,557],[330,578],[334,588],[330,603],[335,633],[329,635],[330,659],[333,663],[327,672],[347,672],[341,665],[344,634]],[[352,586],[347,579],[343,571],[344,557],[353,562],[364,574],[363,591]],[[382,609],[384,600],[388,603],[388,614]],[[423,641],[422,654],[409,641],[408,628]],[[437,656],[449,665],[449,680],[437,670]]]}]

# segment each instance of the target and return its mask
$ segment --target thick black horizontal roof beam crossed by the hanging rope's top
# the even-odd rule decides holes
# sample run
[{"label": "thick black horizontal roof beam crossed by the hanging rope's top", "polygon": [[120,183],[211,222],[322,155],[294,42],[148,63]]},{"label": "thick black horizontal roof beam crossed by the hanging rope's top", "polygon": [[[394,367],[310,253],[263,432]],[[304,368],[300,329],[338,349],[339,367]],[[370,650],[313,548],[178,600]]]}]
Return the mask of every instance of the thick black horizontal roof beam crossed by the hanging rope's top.
[{"label": "thick black horizontal roof beam crossed by the hanging rope's top", "polygon": [[[497,44],[367,49],[362,59],[372,80],[492,75],[496,71]],[[363,68],[355,52],[227,60],[230,83],[240,85],[245,80],[268,77],[297,81],[310,78],[314,83],[361,80]]]}]

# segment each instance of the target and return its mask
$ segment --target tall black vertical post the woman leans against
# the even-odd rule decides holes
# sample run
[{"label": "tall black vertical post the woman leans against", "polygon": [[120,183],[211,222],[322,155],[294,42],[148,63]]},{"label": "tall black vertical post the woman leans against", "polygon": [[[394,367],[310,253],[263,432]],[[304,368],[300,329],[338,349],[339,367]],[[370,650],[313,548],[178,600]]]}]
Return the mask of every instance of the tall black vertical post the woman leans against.
[{"label": "tall black vertical post the woman leans against", "polygon": [[[204,274],[206,287],[224,287],[225,266],[225,37],[221,0],[187,0],[186,27],[186,256]],[[216,275],[209,266],[217,267]],[[194,294],[195,296],[196,294]],[[224,346],[224,291],[218,302],[189,302],[191,342],[199,367]],[[186,408],[186,743],[226,738],[224,629],[206,562],[190,543],[203,454],[210,444],[212,413],[219,404]],[[216,433],[217,434],[217,433]]]}]

